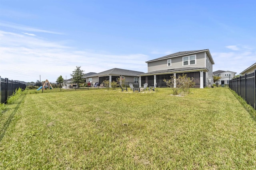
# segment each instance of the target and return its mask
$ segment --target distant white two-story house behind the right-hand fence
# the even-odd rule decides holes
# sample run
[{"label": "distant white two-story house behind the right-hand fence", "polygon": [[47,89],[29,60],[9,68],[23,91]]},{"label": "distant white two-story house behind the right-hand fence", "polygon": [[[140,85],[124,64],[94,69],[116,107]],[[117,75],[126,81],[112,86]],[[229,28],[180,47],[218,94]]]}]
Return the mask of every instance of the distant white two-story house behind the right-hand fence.
[{"label": "distant white two-story house behind the right-hand fence", "polygon": [[214,71],[212,74],[213,76],[220,77],[220,79],[216,83],[223,85],[223,84],[228,84],[229,80],[232,80],[232,78],[236,75],[236,72],[218,70],[218,71]]}]

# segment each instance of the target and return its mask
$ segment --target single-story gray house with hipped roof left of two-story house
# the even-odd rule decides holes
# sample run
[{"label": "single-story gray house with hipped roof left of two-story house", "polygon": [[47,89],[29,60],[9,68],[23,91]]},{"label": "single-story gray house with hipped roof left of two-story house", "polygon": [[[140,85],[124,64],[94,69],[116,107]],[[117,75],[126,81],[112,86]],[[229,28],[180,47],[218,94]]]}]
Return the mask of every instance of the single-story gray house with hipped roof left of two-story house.
[{"label": "single-story gray house with hipped roof left of two-story house", "polygon": [[93,83],[98,82],[99,84],[102,84],[101,86],[103,86],[104,80],[109,80],[111,83],[112,81],[117,82],[118,78],[125,78],[125,82],[139,83],[138,74],[144,74],[144,72],[112,68],[110,70],[92,74],[90,76],[85,76],[85,78],[86,80],[91,80]]}]

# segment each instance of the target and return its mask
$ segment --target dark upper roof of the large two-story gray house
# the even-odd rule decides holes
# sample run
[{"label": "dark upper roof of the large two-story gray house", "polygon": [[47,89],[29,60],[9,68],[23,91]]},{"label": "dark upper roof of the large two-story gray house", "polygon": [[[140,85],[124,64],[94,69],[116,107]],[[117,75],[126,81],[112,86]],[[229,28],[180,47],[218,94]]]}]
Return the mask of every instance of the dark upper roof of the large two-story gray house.
[{"label": "dark upper roof of the large two-story gray house", "polygon": [[183,55],[188,55],[188,54],[194,54],[194,53],[199,53],[199,52],[206,52],[210,61],[212,62],[212,64],[214,64],[214,61],[212,59],[212,55],[210,54],[210,51],[209,49],[204,49],[204,50],[194,50],[194,51],[180,51],[178,53],[173,53],[173,54],[170,54],[170,55],[166,55],[164,57],[159,57],[157,59],[153,59],[153,60],[150,60],[150,61],[146,61],[146,63],[149,63],[149,62],[152,62],[152,61],[157,61],[157,60],[163,60],[163,59],[168,59],[168,58],[172,58],[172,57],[179,57],[179,56],[183,56]]}]

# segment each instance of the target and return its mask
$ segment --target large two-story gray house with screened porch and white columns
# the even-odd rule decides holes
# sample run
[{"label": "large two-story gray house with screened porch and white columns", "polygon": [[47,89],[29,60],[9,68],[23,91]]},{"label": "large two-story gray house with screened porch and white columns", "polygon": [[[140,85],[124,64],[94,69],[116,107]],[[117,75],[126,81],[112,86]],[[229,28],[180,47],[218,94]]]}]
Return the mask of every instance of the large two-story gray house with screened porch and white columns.
[{"label": "large two-story gray house with screened porch and white columns", "polygon": [[211,83],[212,65],[214,61],[209,49],[182,51],[154,60],[146,61],[148,72],[139,74],[140,86],[148,83],[148,86],[166,87],[163,79],[170,79],[170,76],[182,76],[186,74],[193,77],[195,88],[204,88]]}]

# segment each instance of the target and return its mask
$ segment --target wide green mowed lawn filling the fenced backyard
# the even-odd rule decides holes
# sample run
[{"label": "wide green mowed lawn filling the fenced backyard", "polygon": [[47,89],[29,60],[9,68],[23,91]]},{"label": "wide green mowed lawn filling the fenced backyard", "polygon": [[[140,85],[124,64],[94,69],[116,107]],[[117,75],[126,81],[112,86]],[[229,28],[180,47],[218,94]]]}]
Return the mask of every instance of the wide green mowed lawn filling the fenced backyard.
[{"label": "wide green mowed lawn filling the fenced backyard", "polygon": [[256,120],[226,88],[23,95],[0,112],[0,169],[256,169]]}]

